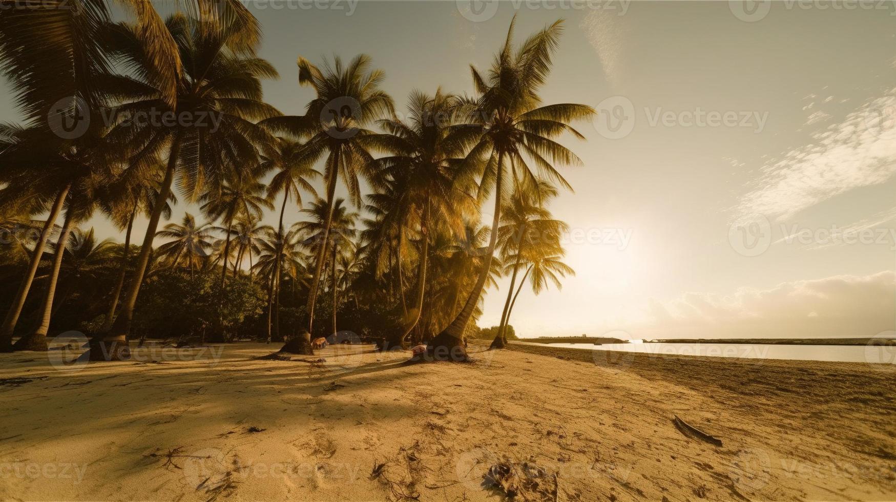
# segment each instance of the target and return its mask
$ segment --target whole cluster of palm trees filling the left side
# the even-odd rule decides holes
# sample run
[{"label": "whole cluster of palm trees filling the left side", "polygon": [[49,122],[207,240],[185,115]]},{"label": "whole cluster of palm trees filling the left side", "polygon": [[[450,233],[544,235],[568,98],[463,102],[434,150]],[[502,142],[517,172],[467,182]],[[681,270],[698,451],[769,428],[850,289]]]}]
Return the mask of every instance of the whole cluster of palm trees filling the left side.
[{"label": "whole cluster of palm trees filling the left side", "polygon": [[[308,335],[335,333],[346,306],[383,313],[394,325],[378,334],[428,342],[435,359],[466,358],[462,338],[496,277],[512,276],[501,346],[522,284],[538,292],[572,273],[560,261],[564,223],[547,203],[557,186],[570,188],[555,166],[581,163],[557,137],[582,138],[570,123],[594,112],[539,100],[561,22],[519,47],[512,23],[491,69],[472,69],[474,96],[414,92],[402,118],[369,56],[319,66],[300,57],[299,83],[315,97],[288,116],[263,100],[261,81],[278,74],[256,56],[260,28],[238,0],[185,2],[165,20],[151,3],[126,0],[133,22],[114,22],[103,0],[5,3],[0,70],[23,122],[0,127],[0,224],[40,231],[3,250],[21,279],[0,351],[13,349],[13,333],[22,334],[16,349],[46,350],[54,308],[71,295],[56,294],[64,267],[102,263],[116,274],[108,294],[90,293],[105,313],[90,342],[94,360],[128,357],[141,286],[158,269],[183,271],[185,281],[217,271],[221,290],[228,279],[258,281],[267,333],[255,337],[269,341],[283,338],[289,287],[285,296],[305,299],[304,325],[289,326],[284,351],[309,353]],[[159,116],[171,120],[134,120]],[[65,134],[72,125],[78,134]],[[362,179],[372,193],[362,194]],[[340,182],[348,202],[336,197]],[[490,227],[480,223],[489,197]],[[159,229],[178,198],[199,204],[202,222],[186,213]],[[290,206],[306,218],[288,225]],[[98,210],[125,232],[124,246],[96,245],[92,230],[79,229]],[[276,227],[261,224],[268,211],[279,213]],[[134,246],[138,216],[148,225]],[[55,252],[45,254],[53,236]],[[78,256],[86,241],[95,256]],[[39,323],[17,331],[36,278]],[[332,325],[315,328],[323,292]]]}]

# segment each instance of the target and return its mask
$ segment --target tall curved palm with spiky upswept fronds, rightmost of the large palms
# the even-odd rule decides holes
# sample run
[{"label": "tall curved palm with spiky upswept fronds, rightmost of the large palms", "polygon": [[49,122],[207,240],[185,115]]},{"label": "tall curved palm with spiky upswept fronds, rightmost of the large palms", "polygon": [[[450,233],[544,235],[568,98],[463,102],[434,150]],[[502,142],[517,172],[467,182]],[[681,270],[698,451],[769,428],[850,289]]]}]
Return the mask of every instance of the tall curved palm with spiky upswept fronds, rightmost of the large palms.
[{"label": "tall curved palm with spiky upswept fronds, rightmost of the large palms", "polygon": [[[585,105],[556,104],[542,106],[538,91],[547,79],[551,56],[562,33],[562,21],[557,21],[527,39],[513,50],[513,24],[507,31],[504,47],[495,57],[487,78],[472,68],[473,85],[478,99],[467,100],[459,114],[461,124],[452,125],[451,141],[469,145],[467,160],[483,164],[479,183],[480,196],[494,189],[495,214],[489,238],[487,263],[478,272],[478,281],[470,291],[460,314],[452,323],[429,342],[428,353],[434,359],[466,360],[461,337],[470,322],[474,309],[487,281],[488,261],[495,253],[497,229],[504,206],[504,177],[511,174],[519,182],[534,179],[535,174],[526,163],[534,163],[541,177],[570,188],[552,162],[581,164],[572,152],[552,138],[564,133],[583,139],[567,123],[587,119],[594,109]],[[508,169],[508,163],[510,169]],[[509,171],[507,173],[506,171]]]}]

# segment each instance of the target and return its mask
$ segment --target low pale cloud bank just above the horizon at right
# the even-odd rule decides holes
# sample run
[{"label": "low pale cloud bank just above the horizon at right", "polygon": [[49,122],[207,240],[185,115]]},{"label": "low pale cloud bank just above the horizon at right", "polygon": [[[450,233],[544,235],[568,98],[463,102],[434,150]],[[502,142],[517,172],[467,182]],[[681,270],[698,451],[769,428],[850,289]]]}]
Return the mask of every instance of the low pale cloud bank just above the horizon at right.
[{"label": "low pale cloud bank just above the horizon at right", "polygon": [[[839,275],[734,294],[651,300],[645,338],[869,337],[896,326],[896,273]],[[637,336],[636,336],[637,337]]]}]

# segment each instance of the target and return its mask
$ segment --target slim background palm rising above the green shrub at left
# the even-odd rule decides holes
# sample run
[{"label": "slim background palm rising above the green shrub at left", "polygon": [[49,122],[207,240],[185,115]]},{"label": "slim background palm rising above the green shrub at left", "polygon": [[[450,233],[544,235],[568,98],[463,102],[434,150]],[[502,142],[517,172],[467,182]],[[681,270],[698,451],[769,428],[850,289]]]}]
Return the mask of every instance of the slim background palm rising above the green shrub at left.
[{"label": "slim background palm rising above the green shrub at left", "polygon": [[261,218],[265,209],[273,209],[271,202],[265,198],[264,184],[256,179],[257,173],[237,171],[217,189],[206,192],[200,198],[202,209],[212,220],[221,219],[226,227],[224,232],[224,249],[221,254],[221,289],[223,290],[228,272],[230,256],[230,238],[233,235],[233,224],[237,217],[250,216]]}]

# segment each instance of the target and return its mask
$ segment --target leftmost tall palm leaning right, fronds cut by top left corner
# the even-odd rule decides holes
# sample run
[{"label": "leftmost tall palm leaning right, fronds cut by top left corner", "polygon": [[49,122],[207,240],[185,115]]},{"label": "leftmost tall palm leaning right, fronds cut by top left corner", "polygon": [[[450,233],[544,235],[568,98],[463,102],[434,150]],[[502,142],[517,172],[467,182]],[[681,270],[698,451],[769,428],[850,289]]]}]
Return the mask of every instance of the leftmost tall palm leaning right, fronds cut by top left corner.
[{"label": "leftmost tall palm leaning right, fronds cut by top left corner", "polygon": [[[8,185],[7,194],[13,199],[21,199],[17,182],[25,182],[18,186],[31,188],[30,202],[48,212],[25,276],[0,325],[0,351],[11,351],[13,331],[47,239],[78,172],[62,164],[83,165],[88,145],[98,135],[100,121],[83,118],[98,111],[106,98],[98,82],[100,75],[108,73],[102,31],[109,13],[103,0],[48,0],[27,8],[0,0],[0,10],[0,73],[10,82],[13,100],[27,124],[24,128],[4,126],[0,131],[0,151],[4,152],[0,181]],[[88,124],[86,131],[81,130],[84,124]],[[25,162],[17,167],[11,158]]]}]

